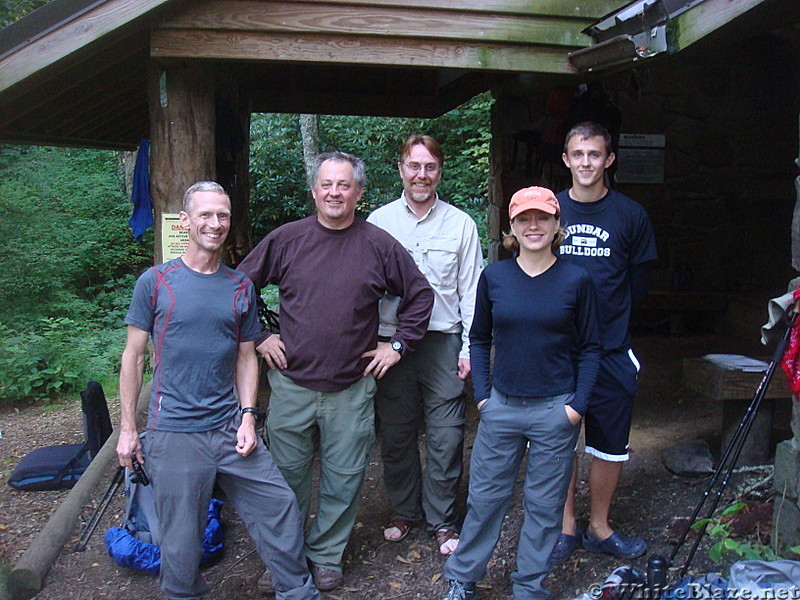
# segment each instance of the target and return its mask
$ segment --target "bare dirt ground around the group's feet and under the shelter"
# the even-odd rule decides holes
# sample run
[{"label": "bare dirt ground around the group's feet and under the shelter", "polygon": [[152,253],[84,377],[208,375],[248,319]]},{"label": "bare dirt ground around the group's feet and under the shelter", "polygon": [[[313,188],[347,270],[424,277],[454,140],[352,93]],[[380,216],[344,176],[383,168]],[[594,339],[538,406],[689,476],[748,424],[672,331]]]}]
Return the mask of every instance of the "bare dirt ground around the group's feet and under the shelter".
[{"label": "bare dirt ground around the group's feet and under the shelter", "polygon": [[[679,441],[695,438],[707,440],[712,449],[718,451],[722,420],[720,406],[689,395],[681,388],[681,360],[709,352],[750,356],[764,355],[765,352],[755,343],[711,334],[641,335],[635,338],[634,348],[643,370],[631,437],[632,458],[623,470],[612,519],[620,530],[644,537],[650,553],[668,556],[673,548],[671,544],[681,531],[681,519],[691,514],[706,481],[672,475],[663,466],[661,451]],[[116,422],[117,406],[113,401],[110,405]],[[788,400],[776,416],[776,439],[790,436],[789,420],[785,416],[787,409]],[[470,407],[467,453],[472,446],[475,426],[475,413]],[[50,410],[42,407],[6,410],[0,414],[0,433],[0,477],[7,480],[14,465],[30,450],[49,444],[80,441],[79,403]],[[585,482],[588,464],[588,459],[581,455],[578,506],[583,517],[588,510]],[[522,469],[524,473],[524,465]],[[110,465],[108,477],[95,491],[94,501],[102,496],[112,472],[113,465]],[[463,485],[466,490],[467,482]],[[66,491],[19,492],[0,485],[0,566],[3,570],[13,567],[66,494]],[[723,506],[726,501],[729,503],[730,499],[724,499]],[[514,570],[521,524],[520,503],[521,494],[517,490],[488,574],[480,584],[482,598],[511,598],[510,574]],[[85,507],[81,522],[75,524],[75,537],[93,508],[93,505]],[[122,512],[123,498],[120,495],[85,552],[74,553],[70,550],[71,543],[67,544],[52,566],[37,599],[160,598],[156,578],[118,567],[105,551],[103,533],[110,526],[121,523]],[[420,529],[413,530],[402,543],[385,542],[381,531],[388,516],[380,459],[375,449],[363,488],[359,520],[345,554],[346,583],[343,588],[324,594],[326,598],[411,600],[443,596],[445,584],[441,572],[445,558],[438,554],[433,541]],[[255,582],[262,572],[262,565],[244,527],[228,507],[223,509],[223,519],[226,527],[225,555],[204,571],[212,588],[207,598],[250,600],[256,595]],[[678,556],[681,564],[684,555],[682,552]],[[646,561],[647,556],[644,556],[632,564],[644,569]],[[579,550],[555,569],[548,585],[554,598],[574,598],[587,591],[591,584],[602,583],[620,564],[614,558]],[[692,566],[693,570],[703,571],[712,567],[702,551]],[[4,593],[0,590],[0,598]]]}]

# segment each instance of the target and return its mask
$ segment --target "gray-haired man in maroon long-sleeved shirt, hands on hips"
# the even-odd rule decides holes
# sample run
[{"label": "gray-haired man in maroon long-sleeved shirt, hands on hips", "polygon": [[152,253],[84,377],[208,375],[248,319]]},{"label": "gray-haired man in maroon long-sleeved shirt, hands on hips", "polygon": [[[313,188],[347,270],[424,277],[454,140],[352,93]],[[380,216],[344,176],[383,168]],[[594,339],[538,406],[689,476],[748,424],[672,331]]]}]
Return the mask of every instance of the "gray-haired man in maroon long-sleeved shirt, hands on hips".
[{"label": "gray-haired man in maroon long-sleeved shirt, hands on hips", "polygon": [[[343,152],[319,155],[311,173],[317,213],[279,227],[239,265],[260,289],[280,289],[280,334],[257,350],[270,367],[267,434],[273,458],[306,516],[319,436],[320,485],[306,556],[322,591],[344,582],[342,554],[374,440],[375,379],[425,335],[433,291],[409,253],[355,208],[364,163]],[[378,301],[402,298],[400,325],[378,341]]]}]

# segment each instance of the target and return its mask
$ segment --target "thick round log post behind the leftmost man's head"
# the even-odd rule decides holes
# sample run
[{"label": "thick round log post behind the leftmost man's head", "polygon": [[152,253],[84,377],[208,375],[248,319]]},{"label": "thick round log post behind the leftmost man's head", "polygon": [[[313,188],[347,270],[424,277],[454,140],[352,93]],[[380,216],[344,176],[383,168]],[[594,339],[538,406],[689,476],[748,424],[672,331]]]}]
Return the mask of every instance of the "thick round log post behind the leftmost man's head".
[{"label": "thick round log post behind the leftmost man's head", "polygon": [[155,263],[163,262],[161,215],[181,210],[183,193],[215,170],[216,66],[204,62],[151,63],[150,195],[155,212]]}]

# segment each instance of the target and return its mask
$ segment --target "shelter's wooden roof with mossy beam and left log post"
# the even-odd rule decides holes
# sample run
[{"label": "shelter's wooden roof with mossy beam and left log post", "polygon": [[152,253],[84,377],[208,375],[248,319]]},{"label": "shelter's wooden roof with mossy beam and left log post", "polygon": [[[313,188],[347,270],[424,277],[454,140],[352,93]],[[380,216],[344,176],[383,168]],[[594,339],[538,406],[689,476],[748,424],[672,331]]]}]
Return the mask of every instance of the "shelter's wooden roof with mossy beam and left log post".
[{"label": "shelter's wooden roof with mossy beam and left log post", "polygon": [[[241,253],[253,112],[433,117],[486,90],[574,85],[673,54],[793,2],[628,4],[53,0],[0,31],[0,142],[133,149],[149,138],[156,240],[183,190],[216,179],[231,192]],[[628,14],[609,16],[620,9]],[[496,115],[496,132],[505,118]],[[500,177],[492,193],[502,206]],[[495,215],[495,239],[499,227]]]}]

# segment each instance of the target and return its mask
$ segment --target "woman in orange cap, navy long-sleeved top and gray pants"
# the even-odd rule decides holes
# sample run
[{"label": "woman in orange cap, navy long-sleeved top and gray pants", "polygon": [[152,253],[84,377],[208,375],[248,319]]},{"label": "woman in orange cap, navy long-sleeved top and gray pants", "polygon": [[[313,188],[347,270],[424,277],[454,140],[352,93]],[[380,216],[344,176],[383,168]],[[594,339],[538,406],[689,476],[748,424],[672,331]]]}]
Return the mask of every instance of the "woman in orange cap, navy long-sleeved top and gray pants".
[{"label": "woman in orange cap, navy long-sleeved top and gray pants", "polygon": [[[480,424],[472,448],[467,516],[444,568],[444,600],[475,597],[528,449],[525,517],[512,575],[515,600],[547,598],[548,559],[561,531],[581,416],[600,360],[589,274],[557,256],[564,239],[555,195],[542,187],[511,198],[515,253],[484,269],[470,330]],[[494,361],[490,351],[494,345]]]}]

